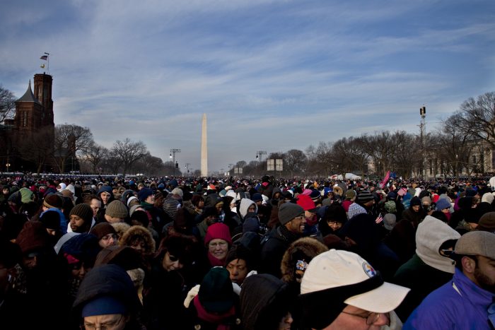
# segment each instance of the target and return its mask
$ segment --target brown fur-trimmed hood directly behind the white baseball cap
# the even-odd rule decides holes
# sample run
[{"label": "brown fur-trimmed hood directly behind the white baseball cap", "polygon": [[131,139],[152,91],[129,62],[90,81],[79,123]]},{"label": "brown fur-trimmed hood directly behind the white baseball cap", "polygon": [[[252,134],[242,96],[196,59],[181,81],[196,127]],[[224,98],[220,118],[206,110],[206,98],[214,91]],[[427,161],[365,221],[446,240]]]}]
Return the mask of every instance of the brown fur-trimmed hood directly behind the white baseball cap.
[{"label": "brown fur-trimmed hood directly behind the white baseball cap", "polygon": [[282,281],[286,283],[296,282],[296,263],[301,258],[308,264],[318,254],[328,251],[319,240],[313,237],[302,237],[294,241],[284,253],[281,262]]}]

